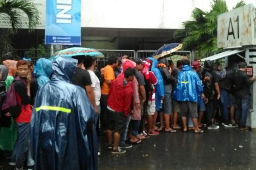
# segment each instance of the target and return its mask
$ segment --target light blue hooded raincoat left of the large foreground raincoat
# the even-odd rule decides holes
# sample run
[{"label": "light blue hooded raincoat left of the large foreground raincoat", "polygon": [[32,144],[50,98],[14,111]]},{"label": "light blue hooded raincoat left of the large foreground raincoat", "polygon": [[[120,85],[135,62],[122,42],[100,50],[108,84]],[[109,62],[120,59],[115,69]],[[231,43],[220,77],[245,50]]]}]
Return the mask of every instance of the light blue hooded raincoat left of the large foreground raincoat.
[{"label": "light blue hooded raincoat left of the large foreground raincoat", "polygon": [[49,77],[52,74],[52,64],[53,61],[47,58],[39,58],[37,61],[37,73],[35,77],[37,78],[39,88],[50,81]]}]

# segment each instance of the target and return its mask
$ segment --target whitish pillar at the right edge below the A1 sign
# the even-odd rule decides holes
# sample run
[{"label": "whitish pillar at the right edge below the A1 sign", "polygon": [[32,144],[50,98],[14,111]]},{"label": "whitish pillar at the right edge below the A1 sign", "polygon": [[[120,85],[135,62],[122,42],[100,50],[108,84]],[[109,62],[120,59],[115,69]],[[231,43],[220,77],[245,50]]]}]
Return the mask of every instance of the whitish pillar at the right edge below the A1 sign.
[{"label": "whitish pillar at the right edge below the A1 sign", "polygon": [[[256,76],[256,47],[246,48],[245,62],[248,66],[253,67],[253,76]],[[250,87],[252,92],[251,109],[247,116],[247,125],[256,128],[256,82]]]}]

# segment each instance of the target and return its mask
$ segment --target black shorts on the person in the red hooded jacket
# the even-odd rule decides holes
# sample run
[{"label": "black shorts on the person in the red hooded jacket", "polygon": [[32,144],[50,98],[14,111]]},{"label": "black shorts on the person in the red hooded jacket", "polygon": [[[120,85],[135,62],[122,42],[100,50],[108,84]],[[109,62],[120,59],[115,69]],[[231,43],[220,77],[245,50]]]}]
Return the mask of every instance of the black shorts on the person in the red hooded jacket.
[{"label": "black shorts on the person in the red hooded jacket", "polygon": [[126,125],[127,117],[123,112],[113,112],[108,109],[107,124],[108,130],[122,134]]}]

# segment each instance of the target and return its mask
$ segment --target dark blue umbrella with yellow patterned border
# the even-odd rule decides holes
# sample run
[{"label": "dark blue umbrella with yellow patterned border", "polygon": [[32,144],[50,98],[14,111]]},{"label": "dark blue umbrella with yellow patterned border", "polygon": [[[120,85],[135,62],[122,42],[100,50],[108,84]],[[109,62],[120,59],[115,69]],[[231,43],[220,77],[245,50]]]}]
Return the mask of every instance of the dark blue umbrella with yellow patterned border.
[{"label": "dark blue umbrella with yellow patterned border", "polygon": [[171,43],[171,44],[164,45],[155,52],[155,54],[153,55],[153,58],[157,59],[157,58],[166,56],[181,48],[182,48],[182,44],[178,44],[178,43]]}]

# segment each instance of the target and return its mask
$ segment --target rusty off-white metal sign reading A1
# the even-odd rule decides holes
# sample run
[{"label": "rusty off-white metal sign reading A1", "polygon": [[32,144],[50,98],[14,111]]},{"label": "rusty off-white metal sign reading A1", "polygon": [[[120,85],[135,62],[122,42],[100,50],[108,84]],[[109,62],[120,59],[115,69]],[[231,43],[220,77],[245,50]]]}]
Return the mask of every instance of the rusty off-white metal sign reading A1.
[{"label": "rusty off-white metal sign reading A1", "polygon": [[256,45],[256,11],[253,4],[218,16],[218,48]]}]

